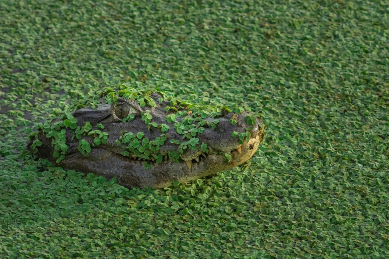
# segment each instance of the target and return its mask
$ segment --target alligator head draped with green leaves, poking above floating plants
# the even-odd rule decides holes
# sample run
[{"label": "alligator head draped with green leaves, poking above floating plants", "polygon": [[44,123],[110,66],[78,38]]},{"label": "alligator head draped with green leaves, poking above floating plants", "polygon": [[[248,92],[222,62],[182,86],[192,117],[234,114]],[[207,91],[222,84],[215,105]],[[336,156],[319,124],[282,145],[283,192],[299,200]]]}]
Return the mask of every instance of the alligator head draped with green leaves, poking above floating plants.
[{"label": "alligator head draped with green leaves, poking above floating plants", "polygon": [[197,105],[164,91],[106,88],[30,134],[28,149],[69,170],[160,189],[247,162],[264,140],[261,114]]}]

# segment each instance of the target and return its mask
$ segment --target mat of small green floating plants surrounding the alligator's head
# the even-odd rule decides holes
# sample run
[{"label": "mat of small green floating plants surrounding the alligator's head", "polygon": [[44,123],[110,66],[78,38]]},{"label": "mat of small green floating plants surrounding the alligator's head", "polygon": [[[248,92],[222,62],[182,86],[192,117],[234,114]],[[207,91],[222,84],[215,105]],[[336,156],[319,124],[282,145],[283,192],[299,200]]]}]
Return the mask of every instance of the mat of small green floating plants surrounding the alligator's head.
[{"label": "mat of small green floating plants surrounding the alligator's head", "polygon": [[[388,1],[0,1],[0,258],[388,258]],[[119,83],[263,112],[250,166],[126,189],[26,150]]]}]

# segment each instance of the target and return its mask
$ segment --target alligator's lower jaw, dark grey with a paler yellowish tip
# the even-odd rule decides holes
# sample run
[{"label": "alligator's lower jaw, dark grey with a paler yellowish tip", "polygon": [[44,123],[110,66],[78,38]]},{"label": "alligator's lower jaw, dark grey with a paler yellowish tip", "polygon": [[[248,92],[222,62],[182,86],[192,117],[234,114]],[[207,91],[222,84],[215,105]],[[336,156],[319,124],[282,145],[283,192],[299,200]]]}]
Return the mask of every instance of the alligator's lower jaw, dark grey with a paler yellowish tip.
[{"label": "alligator's lower jaw, dark grey with a paler yellowish tip", "polygon": [[230,163],[221,154],[209,154],[200,156],[199,161],[193,159],[189,166],[190,162],[183,160],[179,160],[179,163],[171,160],[161,163],[147,161],[151,168],[145,169],[142,160],[134,160],[103,148],[94,148],[89,157],[76,153],[61,161],[61,165],[85,173],[95,173],[107,179],[115,177],[119,184],[128,188],[160,189],[171,186],[173,180],[186,183],[246,162],[256,152],[262,136],[258,134],[251,137],[239,148],[232,150]]}]

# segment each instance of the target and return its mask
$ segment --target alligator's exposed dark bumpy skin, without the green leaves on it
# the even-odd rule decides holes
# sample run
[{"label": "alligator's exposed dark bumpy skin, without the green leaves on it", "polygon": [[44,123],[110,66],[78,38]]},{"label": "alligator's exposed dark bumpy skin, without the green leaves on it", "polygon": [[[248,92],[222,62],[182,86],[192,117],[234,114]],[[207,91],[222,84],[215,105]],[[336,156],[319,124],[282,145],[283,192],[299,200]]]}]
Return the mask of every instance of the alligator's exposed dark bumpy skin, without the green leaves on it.
[{"label": "alligator's exposed dark bumpy skin, without the green leaves on it", "polygon": [[[221,110],[214,118],[206,117],[203,120],[207,121],[207,125],[203,126],[204,131],[198,133],[195,137],[198,138],[198,145],[179,151],[179,144],[171,143],[170,140],[179,140],[180,143],[188,141],[188,138],[183,139],[183,135],[177,133],[174,128],[176,123],[180,123],[184,117],[198,117],[196,113],[192,113],[193,108],[188,108],[185,105],[179,105],[179,102],[174,104],[178,111],[185,111],[185,115],[176,118],[176,122],[167,122],[166,116],[175,113],[173,110],[165,112],[164,109],[171,105],[171,102],[163,98],[160,94],[153,92],[147,93],[147,96],[155,101],[156,107],[144,106],[141,107],[139,102],[132,99],[120,97],[113,104],[104,103],[104,99],[99,99],[94,109],[85,107],[78,109],[72,113],[77,119],[77,126],[80,128],[89,122],[90,130],[98,129],[97,125],[103,125],[103,132],[107,132],[106,143],[92,146],[88,154],[82,154],[79,151],[80,140],[84,139],[88,143],[93,143],[95,135],[82,134],[80,139],[75,137],[75,130],[66,128],[65,138],[68,149],[65,158],[58,162],[57,158],[53,157],[56,151],[53,146],[53,137],[47,137],[47,132],[43,128],[36,134],[35,139],[42,142],[39,147],[35,148],[35,153],[44,159],[48,159],[53,163],[66,169],[73,169],[83,173],[94,173],[103,176],[107,179],[116,177],[118,183],[128,188],[144,188],[150,187],[153,189],[168,187],[172,184],[172,180],[178,182],[189,182],[200,177],[215,174],[217,172],[233,168],[249,160],[258,148],[258,145],[263,141],[264,126],[260,118],[255,118],[255,122],[250,125],[245,121],[246,116],[252,115],[247,111],[240,114],[229,112],[229,110]],[[138,98],[139,99],[139,98]],[[170,103],[170,104],[169,104]],[[120,107],[119,107],[120,106]],[[122,109],[124,107],[124,109]],[[190,105],[189,105],[190,107]],[[157,125],[165,124],[169,127],[166,132],[161,132],[160,128],[150,127],[144,120],[142,115],[149,110],[153,119],[152,122]],[[201,109],[200,109],[201,110]],[[197,110],[198,111],[198,110]],[[186,113],[187,112],[187,113]],[[123,122],[124,115],[133,114],[132,121]],[[236,122],[231,124],[230,119]],[[210,127],[212,122],[218,120],[219,123],[214,127]],[[51,122],[60,122],[61,119],[56,119]],[[197,125],[197,123],[195,123]],[[199,128],[199,126],[196,126]],[[78,129],[79,129],[78,128]],[[245,138],[244,142],[238,137],[233,138],[233,132],[244,133],[249,128],[250,137]],[[89,131],[90,131],[89,130]],[[47,131],[47,130],[46,130]],[[132,152],[124,154],[124,151],[129,151],[123,148],[122,144],[118,143],[123,132],[132,132],[136,135],[138,132],[143,132],[144,138],[150,141],[155,140],[161,135],[167,139],[160,145],[157,151],[148,159],[143,159],[136,156]],[[31,138],[29,143],[30,150],[34,138]],[[38,141],[38,140],[35,140]],[[201,144],[206,144],[207,149],[201,148]],[[179,155],[178,159],[171,158],[172,152]],[[231,160],[226,161],[223,156],[231,154]],[[156,161],[153,155],[162,155],[162,161]],[[156,157],[156,156],[155,156]],[[174,161],[175,160],[175,161]],[[149,168],[145,168],[145,161]],[[177,163],[178,162],[178,163]],[[150,167],[151,166],[151,167]]]}]

